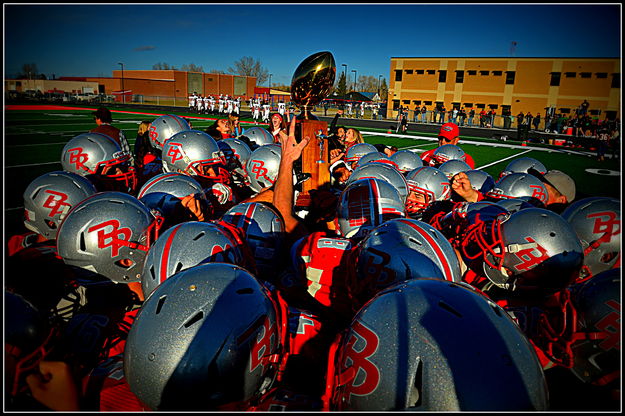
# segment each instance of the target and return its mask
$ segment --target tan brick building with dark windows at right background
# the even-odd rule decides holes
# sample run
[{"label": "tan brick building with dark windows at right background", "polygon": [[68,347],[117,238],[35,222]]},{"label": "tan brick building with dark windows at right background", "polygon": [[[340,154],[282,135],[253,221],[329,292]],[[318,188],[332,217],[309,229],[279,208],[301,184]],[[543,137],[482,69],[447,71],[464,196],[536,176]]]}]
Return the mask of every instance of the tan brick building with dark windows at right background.
[{"label": "tan brick building with dark windows at right background", "polygon": [[453,107],[509,109],[545,115],[546,108],[575,116],[587,100],[589,113],[620,118],[619,58],[410,58],[392,57],[388,117],[400,106],[413,110]]}]

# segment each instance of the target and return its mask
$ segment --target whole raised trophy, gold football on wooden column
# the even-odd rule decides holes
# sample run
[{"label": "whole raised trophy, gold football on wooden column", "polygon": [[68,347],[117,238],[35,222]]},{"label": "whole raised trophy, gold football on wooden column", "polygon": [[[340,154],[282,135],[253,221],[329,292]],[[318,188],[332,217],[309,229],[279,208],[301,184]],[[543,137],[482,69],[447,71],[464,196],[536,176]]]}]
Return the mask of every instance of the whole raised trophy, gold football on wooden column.
[{"label": "whole raised trophy, gold football on wooden column", "polygon": [[[330,185],[328,139],[325,138],[328,124],[320,121],[312,109],[328,96],[334,85],[336,64],[330,52],[317,52],[299,64],[291,80],[291,99],[301,108],[296,117],[295,137],[299,142],[309,137],[310,142],[302,152],[301,172],[310,174],[302,183],[296,205],[310,205],[310,191]],[[296,167],[297,169],[297,167]]]}]

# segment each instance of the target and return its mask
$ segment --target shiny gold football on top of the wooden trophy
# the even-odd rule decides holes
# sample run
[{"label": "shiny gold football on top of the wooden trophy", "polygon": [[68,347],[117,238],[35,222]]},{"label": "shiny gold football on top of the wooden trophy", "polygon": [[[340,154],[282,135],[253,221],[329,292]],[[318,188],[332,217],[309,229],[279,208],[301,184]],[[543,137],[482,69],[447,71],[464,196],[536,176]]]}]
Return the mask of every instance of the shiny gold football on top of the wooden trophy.
[{"label": "shiny gold football on top of the wooden trophy", "polygon": [[[304,113],[330,94],[336,76],[334,56],[330,52],[317,52],[304,59],[291,80],[291,99],[302,107]],[[307,118],[307,117],[305,117]]]}]

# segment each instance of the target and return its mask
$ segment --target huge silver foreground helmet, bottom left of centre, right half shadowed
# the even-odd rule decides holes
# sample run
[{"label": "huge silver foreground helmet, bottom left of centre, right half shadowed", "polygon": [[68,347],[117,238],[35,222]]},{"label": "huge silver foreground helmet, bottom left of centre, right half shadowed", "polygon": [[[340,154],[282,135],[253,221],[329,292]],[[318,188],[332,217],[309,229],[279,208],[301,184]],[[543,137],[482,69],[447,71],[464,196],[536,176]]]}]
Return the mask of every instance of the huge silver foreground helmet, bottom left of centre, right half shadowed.
[{"label": "huge silver foreground helmet, bottom left of centre, right half shadowed", "polygon": [[152,410],[250,402],[276,378],[286,337],[281,317],[268,290],[238,266],[183,270],[145,300],[130,329],[130,390]]}]

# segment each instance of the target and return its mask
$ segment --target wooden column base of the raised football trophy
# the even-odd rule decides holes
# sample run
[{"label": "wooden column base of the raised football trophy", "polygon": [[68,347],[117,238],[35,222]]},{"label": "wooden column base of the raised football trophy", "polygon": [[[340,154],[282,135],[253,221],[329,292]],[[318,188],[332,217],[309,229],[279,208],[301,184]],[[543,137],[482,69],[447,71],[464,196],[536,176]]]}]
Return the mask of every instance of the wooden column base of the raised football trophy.
[{"label": "wooden column base of the raised football trophy", "polygon": [[328,139],[317,137],[327,134],[328,124],[319,120],[298,120],[296,131],[299,133],[296,133],[298,142],[304,137],[310,137],[310,142],[302,152],[302,172],[309,173],[311,177],[302,183],[302,192],[295,202],[298,207],[307,207],[310,205],[312,189],[330,186]]}]

